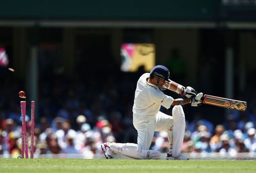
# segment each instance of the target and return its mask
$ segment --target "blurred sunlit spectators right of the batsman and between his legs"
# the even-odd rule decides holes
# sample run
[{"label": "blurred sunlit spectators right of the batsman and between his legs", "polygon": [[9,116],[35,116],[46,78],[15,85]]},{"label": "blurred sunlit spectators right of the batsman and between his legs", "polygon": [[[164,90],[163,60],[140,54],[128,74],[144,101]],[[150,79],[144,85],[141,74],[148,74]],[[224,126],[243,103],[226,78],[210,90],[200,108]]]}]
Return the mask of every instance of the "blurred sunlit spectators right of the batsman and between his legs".
[{"label": "blurred sunlit spectators right of the batsman and between his legs", "polygon": [[[230,114],[230,117],[233,115]],[[229,118],[230,118],[229,117]],[[240,121],[240,127],[231,121],[230,126],[224,124],[214,126],[201,119],[186,125],[182,145],[184,153],[221,153],[236,156],[237,153],[256,152],[256,130],[254,123]],[[160,152],[168,151],[167,132],[156,135],[153,149]]]}]

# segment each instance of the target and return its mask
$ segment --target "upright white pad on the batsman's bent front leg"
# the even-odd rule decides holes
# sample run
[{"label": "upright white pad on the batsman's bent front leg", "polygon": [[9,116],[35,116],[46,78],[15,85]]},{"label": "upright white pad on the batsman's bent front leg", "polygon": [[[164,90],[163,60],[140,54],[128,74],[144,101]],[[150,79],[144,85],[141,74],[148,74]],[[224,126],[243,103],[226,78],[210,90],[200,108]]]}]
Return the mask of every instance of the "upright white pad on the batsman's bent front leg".
[{"label": "upright white pad on the batsman's bent front leg", "polygon": [[180,154],[184,133],[185,133],[185,114],[181,105],[174,106],[173,111],[173,156]]}]

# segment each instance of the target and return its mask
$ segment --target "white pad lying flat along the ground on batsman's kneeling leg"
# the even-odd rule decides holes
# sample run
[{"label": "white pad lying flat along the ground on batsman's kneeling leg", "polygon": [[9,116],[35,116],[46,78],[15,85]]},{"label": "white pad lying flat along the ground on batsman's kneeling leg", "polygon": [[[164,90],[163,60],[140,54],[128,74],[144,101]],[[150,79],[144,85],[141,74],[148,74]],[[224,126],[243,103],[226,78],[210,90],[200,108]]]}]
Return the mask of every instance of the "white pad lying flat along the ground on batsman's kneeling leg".
[{"label": "white pad lying flat along the ground on batsman's kneeling leg", "polygon": [[135,143],[109,143],[112,152],[133,159],[161,159],[160,152],[156,150],[141,149]]}]

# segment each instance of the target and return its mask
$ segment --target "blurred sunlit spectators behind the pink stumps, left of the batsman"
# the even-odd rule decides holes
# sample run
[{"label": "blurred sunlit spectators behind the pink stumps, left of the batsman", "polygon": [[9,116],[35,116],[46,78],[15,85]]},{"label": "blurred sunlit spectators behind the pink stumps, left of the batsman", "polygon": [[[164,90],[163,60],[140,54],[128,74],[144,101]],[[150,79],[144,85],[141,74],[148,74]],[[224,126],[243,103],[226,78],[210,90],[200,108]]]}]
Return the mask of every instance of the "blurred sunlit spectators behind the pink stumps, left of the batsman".
[{"label": "blurred sunlit spectators behind the pink stumps, left of the batsman", "polygon": [[[95,127],[87,122],[84,115],[76,118],[77,130],[72,129],[70,121],[56,117],[52,124],[41,118],[34,130],[34,158],[42,154],[81,154],[83,158],[93,158],[101,153],[100,144],[104,141],[115,142],[112,125],[104,117],[100,117]],[[0,154],[4,158],[17,158],[21,152],[21,126],[13,119],[2,122],[0,129]],[[30,141],[31,121],[26,116],[27,138]],[[28,142],[30,148],[30,142]],[[30,153],[29,153],[30,154]]]}]

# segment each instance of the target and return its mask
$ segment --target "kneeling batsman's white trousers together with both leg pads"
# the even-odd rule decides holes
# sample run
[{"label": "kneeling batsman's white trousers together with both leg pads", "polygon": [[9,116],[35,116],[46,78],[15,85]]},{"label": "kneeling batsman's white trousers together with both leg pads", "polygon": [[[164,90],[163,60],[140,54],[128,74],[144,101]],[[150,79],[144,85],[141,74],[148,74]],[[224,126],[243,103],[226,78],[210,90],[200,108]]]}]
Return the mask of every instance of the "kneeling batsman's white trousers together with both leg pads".
[{"label": "kneeling batsman's white trousers together with both leg pads", "polygon": [[148,150],[154,132],[167,131],[169,151],[174,157],[179,156],[185,132],[185,115],[182,106],[174,106],[173,116],[158,112],[154,116],[133,116],[134,127],[138,131],[137,144],[134,143],[108,143],[112,152],[134,159],[160,159],[160,152]]}]

